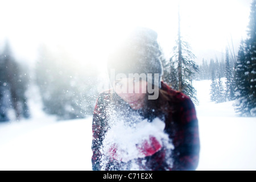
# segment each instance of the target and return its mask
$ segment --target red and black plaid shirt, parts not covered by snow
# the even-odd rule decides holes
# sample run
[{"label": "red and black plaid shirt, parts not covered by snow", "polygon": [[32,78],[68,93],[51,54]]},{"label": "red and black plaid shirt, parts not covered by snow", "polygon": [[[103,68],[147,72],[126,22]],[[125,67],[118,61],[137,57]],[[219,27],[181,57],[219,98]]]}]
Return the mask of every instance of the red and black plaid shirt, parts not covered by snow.
[{"label": "red and black plaid shirt, parts not covered by snow", "polygon": [[[195,170],[199,162],[199,129],[196,117],[195,106],[191,99],[181,92],[171,89],[168,85],[161,83],[161,89],[165,90],[175,100],[175,110],[170,111],[170,116],[166,117],[167,121],[165,131],[174,144],[172,152],[172,166],[166,166],[164,163],[164,151],[160,150],[156,154],[146,157],[149,163],[154,163],[154,170]],[[106,107],[110,102],[110,92],[101,93],[98,97],[97,104],[93,113],[93,140],[92,140],[92,169],[100,170],[101,152],[100,147],[108,126]],[[110,165],[115,163],[110,161]],[[118,165],[114,169],[119,169]]]}]

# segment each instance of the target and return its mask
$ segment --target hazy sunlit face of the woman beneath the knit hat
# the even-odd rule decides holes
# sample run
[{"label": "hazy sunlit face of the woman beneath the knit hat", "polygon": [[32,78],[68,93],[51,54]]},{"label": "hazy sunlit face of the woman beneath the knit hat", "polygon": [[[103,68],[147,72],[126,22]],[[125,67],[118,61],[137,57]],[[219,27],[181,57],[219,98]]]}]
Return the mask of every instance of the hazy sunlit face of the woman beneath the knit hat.
[{"label": "hazy sunlit face of the woman beneath the knit hat", "polygon": [[147,81],[120,78],[114,82],[115,93],[133,109],[141,109],[146,98]]}]

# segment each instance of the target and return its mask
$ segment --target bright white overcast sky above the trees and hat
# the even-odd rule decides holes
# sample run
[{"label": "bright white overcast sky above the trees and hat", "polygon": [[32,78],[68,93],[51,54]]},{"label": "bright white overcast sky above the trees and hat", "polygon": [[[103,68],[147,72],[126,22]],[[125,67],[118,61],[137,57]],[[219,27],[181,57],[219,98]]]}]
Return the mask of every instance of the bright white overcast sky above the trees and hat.
[{"label": "bright white overcast sky above the trees and hat", "polygon": [[238,48],[246,38],[251,1],[0,0],[0,47],[9,40],[15,56],[32,64],[43,43],[53,51],[64,47],[77,64],[102,66],[119,40],[142,26],[158,32],[168,57],[175,45],[180,4],[181,36],[201,59],[208,50],[225,52],[231,40]]}]

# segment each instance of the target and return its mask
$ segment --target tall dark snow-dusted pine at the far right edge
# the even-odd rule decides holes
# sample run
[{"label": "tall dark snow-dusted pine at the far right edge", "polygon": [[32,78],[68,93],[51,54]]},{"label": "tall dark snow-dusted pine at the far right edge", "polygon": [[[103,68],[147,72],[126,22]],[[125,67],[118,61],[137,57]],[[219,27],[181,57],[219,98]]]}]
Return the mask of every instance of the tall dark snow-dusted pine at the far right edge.
[{"label": "tall dark snow-dusted pine at the far right edge", "polygon": [[256,116],[256,0],[251,3],[248,38],[241,43],[235,69],[236,105],[241,115]]}]

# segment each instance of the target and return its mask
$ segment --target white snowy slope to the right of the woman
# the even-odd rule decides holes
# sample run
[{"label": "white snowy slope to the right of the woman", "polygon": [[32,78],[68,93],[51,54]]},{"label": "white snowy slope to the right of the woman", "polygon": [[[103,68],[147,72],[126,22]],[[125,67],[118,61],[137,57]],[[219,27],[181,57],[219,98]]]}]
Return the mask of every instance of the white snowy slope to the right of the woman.
[{"label": "white snowy slope to the right of the woman", "polygon": [[256,170],[256,118],[238,117],[233,101],[210,102],[210,80],[196,81],[200,131],[197,170]]}]

